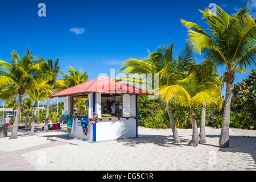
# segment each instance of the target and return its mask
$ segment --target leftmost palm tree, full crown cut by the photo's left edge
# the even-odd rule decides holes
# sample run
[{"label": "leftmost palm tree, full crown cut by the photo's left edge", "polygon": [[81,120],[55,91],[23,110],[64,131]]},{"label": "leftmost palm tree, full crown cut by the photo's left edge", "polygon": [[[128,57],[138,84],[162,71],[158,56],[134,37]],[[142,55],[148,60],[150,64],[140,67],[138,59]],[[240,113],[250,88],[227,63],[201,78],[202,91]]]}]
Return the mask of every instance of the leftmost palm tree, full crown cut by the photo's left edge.
[{"label": "leftmost palm tree, full crown cut by the photo's left edge", "polygon": [[18,121],[20,108],[24,94],[35,85],[35,76],[40,68],[40,63],[34,61],[34,56],[27,53],[20,58],[17,52],[11,53],[11,61],[0,60],[0,86],[5,88],[6,93],[18,94],[18,108],[15,116],[13,131],[9,139],[18,138]]}]

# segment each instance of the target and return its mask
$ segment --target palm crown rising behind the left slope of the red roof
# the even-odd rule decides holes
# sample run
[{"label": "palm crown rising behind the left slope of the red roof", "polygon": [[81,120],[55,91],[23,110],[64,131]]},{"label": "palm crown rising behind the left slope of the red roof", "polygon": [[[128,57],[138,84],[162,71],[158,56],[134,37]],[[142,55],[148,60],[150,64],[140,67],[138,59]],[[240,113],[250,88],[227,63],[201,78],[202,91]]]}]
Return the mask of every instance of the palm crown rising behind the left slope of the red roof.
[{"label": "palm crown rising behind the left slope of the red roof", "polygon": [[[61,71],[60,71],[61,72]],[[74,70],[72,67],[68,69],[69,75],[66,75],[64,72],[61,72],[61,75],[64,77],[62,80],[59,80],[56,85],[59,84],[61,89],[70,88],[72,86],[81,84],[88,80],[88,74],[86,72],[82,73],[82,69]],[[74,111],[77,112],[77,102],[79,99],[74,99]]]}]

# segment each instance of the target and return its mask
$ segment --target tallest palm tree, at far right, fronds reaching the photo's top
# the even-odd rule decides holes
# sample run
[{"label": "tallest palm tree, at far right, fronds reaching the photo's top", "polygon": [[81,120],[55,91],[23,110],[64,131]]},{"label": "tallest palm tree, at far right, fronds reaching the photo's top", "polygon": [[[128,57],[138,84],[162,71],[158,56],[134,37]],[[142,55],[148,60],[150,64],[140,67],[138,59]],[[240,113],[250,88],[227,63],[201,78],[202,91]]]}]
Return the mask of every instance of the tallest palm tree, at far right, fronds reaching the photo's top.
[{"label": "tallest palm tree, at far right, fronds reaching the photo's top", "polygon": [[188,44],[194,52],[203,53],[217,66],[225,65],[226,95],[222,119],[220,147],[229,147],[229,122],[231,93],[237,72],[245,72],[246,67],[255,65],[256,57],[256,23],[251,18],[247,3],[244,9],[232,15],[227,14],[220,6],[217,13],[209,9],[200,12],[207,20],[209,33],[196,23],[181,20],[188,30]]}]

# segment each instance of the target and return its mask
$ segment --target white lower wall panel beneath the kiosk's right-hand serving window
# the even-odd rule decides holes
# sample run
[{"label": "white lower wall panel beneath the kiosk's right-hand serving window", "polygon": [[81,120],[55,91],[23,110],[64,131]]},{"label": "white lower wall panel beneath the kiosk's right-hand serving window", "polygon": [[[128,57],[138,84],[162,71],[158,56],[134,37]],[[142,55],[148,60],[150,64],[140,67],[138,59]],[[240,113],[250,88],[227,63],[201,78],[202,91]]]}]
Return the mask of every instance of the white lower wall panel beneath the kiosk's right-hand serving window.
[{"label": "white lower wall panel beneath the kiosk's right-hand serving window", "polygon": [[102,119],[96,124],[96,141],[136,137],[135,118]]}]

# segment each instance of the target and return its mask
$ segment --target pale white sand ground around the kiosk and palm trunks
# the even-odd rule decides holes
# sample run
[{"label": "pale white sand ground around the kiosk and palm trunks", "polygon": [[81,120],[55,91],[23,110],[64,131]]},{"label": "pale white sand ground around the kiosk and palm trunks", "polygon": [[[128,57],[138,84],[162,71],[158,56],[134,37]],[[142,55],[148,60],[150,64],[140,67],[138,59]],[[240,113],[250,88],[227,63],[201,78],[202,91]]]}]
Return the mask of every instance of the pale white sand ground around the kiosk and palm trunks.
[{"label": "pale white sand ground around the kiosk and palm trunks", "polygon": [[[68,139],[65,131],[38,131],[33,137],[1,138],[0,169],[256,170],[256,131],[230,129],[229,148],[218,147],[220,131],[206,127],[207,143],[197,147],[187,146],[191,129],[178,129],[180,144],[174,143],[171,129],[138,127],[138,138],[97,143]],[[11,156],[29,166],[17,168]]]}]

